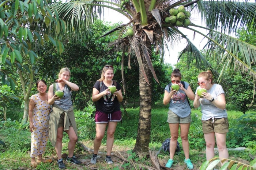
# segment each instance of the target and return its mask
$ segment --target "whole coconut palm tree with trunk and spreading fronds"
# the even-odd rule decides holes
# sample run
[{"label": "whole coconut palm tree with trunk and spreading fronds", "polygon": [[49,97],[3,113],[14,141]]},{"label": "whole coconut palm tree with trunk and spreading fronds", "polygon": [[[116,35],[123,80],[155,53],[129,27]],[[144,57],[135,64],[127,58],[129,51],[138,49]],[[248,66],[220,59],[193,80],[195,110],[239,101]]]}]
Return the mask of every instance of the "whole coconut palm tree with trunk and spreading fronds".
[{"label": "whole coconut palm tree with trunk and spreading fronds", "polygon": [[[192,30],[208,39],[204,47],[207,55],[211,55],[213,51],[219,52],[219,59],[225,63],[219,80],[225,71],[242,70],[250,72],[255,82],[256,71],[252,66],[256,61],[256,47],[230,36],[232,32],[248,25],[252,25],[252,33],[255,33],[255,3],[233,0],[80,0],[56,3],[49,7],[65,21],[69,31],[80,37],[83,35],[79,33],[84,30],[90,34],[90,25],[94,20],[101,19],[105,8],[117,11],[130,20],[129,23],[121,24],[103,36],[119,31],[119,38],[109,47],[115,51],[128,52],[129,59],[135,57],[140,66],[140,116],[138,137],[133,149],[138,155],[148,154],[150,142],[151,79],[154,77],[158,82],[151,63],[152,50],[163,56],[164,49],[168,50],[183,38],[187,40],[187,47],[180,57],[187,52],[190,59],[196,59],[198,68],[211,68],[184,30]],[[176,9],[171,8],[178,8],[178,13],[183,12],[185,15],[176,14]],[[170,12],[175,16],[172,16],[172,19]],[[199,12],[206,27],[193,24],[189,12]],[[208,34],[204,35],[196,28],[206,29]]]}]

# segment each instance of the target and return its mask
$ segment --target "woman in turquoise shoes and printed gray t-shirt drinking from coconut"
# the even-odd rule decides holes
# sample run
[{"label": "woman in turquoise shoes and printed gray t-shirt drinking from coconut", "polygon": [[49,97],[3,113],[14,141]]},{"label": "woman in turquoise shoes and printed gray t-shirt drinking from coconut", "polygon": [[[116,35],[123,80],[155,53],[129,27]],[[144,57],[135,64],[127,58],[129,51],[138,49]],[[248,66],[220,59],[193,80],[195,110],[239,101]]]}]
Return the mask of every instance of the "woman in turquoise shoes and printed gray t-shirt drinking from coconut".
[{"label": "woman in turquoise shoes and printed gray t-shirt drinking from coconut", "polygon": [[181,83],[181,73],[179,69],[175,69],[171,75],[172,84],[178,84],[180,86],[179,90],[174,90],[170,84],[165,87],[165,95],[163,97],[163,104],[169,104],[168,118],[167,122],[169,123],[171,138],[170,138],[170,159],[166,163],[165,167],[172,167],[173,157],[175,154],[178,131],[180,126],[180,137],[182,140],[182,148],[185,154],[184,162],[187,164],[188,169],[193,169],[193,164],[189,159],[189,143],[188,143],[188,131],[191,119],[191,108],[187,98],[190,100],[195,99],[195,95],[191,90],[191,87],[187,82]]}]

